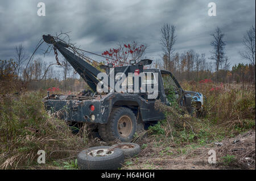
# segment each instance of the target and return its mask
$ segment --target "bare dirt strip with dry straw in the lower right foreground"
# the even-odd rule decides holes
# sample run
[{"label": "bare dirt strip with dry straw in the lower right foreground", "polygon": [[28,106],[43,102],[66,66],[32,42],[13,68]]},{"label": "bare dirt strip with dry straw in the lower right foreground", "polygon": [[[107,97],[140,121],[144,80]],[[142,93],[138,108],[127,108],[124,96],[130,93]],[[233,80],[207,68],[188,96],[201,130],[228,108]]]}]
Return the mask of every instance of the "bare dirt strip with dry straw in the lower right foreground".
[{"label": "bare dirt strip with dry straw in the lower right foreground", "polygon": [[[204,146],[156,145],[147,139],[138,141],[141,146],[147,143],[146,148],[127,159],[122,169],[255,169],[255,131]],[[208,163],[209,150],[216,151],[215,164]]]}]

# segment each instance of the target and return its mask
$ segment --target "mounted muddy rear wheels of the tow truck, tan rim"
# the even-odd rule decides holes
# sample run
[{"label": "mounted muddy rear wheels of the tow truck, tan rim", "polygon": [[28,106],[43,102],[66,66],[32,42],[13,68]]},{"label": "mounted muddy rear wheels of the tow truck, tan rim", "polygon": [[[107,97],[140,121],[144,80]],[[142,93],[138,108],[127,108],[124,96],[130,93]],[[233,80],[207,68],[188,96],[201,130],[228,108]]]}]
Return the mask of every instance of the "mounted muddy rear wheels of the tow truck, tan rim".
[{"label": "mounted muddy rear wheels of the tow truck, tan rim", "polygon": [[130,142],[137,131],[136,117],[129,108],[114,108],[107,124],[99,124],[98,132],[104,141]]}]

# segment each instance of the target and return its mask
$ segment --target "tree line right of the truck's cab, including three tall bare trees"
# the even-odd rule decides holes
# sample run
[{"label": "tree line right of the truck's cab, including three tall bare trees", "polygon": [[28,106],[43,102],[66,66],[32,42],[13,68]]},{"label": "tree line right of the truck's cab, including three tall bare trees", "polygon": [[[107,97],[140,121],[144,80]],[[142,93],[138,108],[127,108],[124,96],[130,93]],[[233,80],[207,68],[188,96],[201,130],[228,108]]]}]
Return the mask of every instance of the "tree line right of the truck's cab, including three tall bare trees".
[{"label": "tree line right of the truck's cab, including three tall bare trees", "polygon": [[210,57],[199,54],[190,49],[184,52],[175,52],[177,40],[176,27],[164,24],[161,28],[162,37],[160,44],[163,49],[162,62],[155,66],[172,71],[180,81],[199,81],[204,78],[212,78],[216,82],[250,82],[255,83],[255,27],[251,26],[243,36],[243,47],[239,53],[241,60],[247,64],[238,64],[231,67],[229,57],[226,56],[225,33],[220,27],[210,35],[212,50]]}]

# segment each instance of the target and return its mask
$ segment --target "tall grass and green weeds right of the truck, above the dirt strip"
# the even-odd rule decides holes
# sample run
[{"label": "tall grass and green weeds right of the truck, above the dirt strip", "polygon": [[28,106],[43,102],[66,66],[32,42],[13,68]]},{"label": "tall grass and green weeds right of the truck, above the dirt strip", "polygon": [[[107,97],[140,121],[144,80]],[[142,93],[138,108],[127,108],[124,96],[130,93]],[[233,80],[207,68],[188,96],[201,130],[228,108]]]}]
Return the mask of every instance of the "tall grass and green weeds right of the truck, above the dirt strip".
[{"label": "tall grass and green weeds right of the truck, above the dirt strip", "polygon": [[152,134],[160,133],[165,140],[176,144],[197,142],[204,145],[255,129],[255,88],[213,82],[182,82],[181,86],[184,90],[200,91],[206,96],[206,116],[196,118],[184,113],[184,110],[181,114],[179,107],[156,102],[155,107],[166,114],[166,120],[156,125],[157,131],[156,127],[150,128]]}]

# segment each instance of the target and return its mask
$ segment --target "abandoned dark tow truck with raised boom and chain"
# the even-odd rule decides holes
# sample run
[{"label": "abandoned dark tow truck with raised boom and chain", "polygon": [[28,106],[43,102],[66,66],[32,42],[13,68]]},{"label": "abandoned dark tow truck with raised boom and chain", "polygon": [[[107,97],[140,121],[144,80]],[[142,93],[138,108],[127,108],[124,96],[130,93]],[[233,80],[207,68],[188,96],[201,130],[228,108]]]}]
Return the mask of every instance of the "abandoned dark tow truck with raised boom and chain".
[{"label": "abandoned dark tow truck with raised boom and chain", "polygon": [[[108,74],[108,81],[116,83],[117,79],[113,80],[110,76],[110,69],[113,65],[104,65],[98,69],[68,49],[67,43],[57,41],[51,35],[43,35],[43,40],[52,44],[55,50],[59,50],[90,87],[89,90],[82,91],[80,95],[49,95],[48,92],[48,95],[43,99],[46,110],[59,113],[60,119],[67,121],[70,125],[84,123],[94,125],[95,130],[98,131],[104,141],[129,142],[134,138],[135,133],[144,131],[147,123],[163,120],[164,113],[156,110],[154,105],[156,100],[160,100],[163,104],[170,106],[166,96],[170,87],[175,92],[174,97],[180,106],[187,108],[188,112],[193,111],[192,102],[196,103],[197,111],[203,108],[203,94],[184,91],[174,75],[168,70],[144,69],[144,66],[152,63],[152,60],[148,59],[139,62],[131,60],[130,65],[114,68],[114,77],[116,78],[118,73],[123,73],[126,76],[129,73],[151,74],[151,80],[147,80],[147,76],[141,76],[139,90],[141,90],[142,85],[147,85],[147,83],[158,86],[156,98],[148,98],[151,92],[147,90],[139,92],[117,92],[114,90],[102,94],[97,91],[97,85],[102,81],[97,76],[104,69]],[[158,76],[155,76],[156,74]],[[127,78],[125,81],[127,81],[127,85],[131,84],[134,87],[134,78],[133,81],[129,82]]]}]

